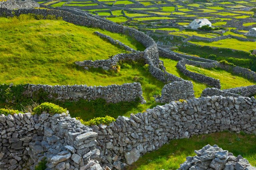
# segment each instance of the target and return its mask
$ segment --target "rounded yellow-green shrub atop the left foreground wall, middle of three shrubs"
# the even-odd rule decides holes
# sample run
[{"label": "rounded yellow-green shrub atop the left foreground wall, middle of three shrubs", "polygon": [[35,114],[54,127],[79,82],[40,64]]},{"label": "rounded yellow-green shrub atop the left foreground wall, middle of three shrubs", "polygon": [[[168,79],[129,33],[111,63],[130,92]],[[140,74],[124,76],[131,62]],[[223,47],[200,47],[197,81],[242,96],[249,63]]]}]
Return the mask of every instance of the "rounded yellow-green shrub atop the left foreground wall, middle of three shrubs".
[{"label": "rounded yellow-green shrub atop the left foreground wall, middle of three shrubs", "polygon": [[40,115],[43,111],[49,113],[50,115],[54,114],[61,114],[61,113],[66,113],[67,109],[64,109],[58,105],[55,105],[53,103],[42,103],[41,105],[35,107],[33,109],[34,114]]}]

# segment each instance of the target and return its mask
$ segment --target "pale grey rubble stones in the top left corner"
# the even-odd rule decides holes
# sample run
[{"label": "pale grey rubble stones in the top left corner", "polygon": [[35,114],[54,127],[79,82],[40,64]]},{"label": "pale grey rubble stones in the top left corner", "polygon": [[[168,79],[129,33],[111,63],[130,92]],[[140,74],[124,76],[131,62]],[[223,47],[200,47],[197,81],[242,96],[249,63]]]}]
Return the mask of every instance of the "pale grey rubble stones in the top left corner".
[{"label": "pale grey rubble stones in the top left corner", "polygon": [[7,8],[10,10],[13,9],[33,9],[36,7],[40,7],[38,3],[32,0],[25,0],[25,1],[19,1],[19,0],[8,0],[8,1],[2,1],[0,2],[0,8]]}]

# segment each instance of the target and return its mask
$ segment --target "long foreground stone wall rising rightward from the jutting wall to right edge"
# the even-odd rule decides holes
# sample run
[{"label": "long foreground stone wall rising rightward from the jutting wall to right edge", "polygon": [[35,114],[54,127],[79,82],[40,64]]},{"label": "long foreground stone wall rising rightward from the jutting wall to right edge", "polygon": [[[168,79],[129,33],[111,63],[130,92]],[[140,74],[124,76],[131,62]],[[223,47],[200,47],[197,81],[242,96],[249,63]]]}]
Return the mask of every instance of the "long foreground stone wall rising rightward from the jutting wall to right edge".
[{"label": "long foreground stone wall rising rightward from the jutting wall to right edge", "polygon": [[229,130],[255,133],[256,100],[247,97],[202,97],[171,102],[144,113],[120,116],[109,126],[93,126],[102,166],[121,169],[170,139]]}]

